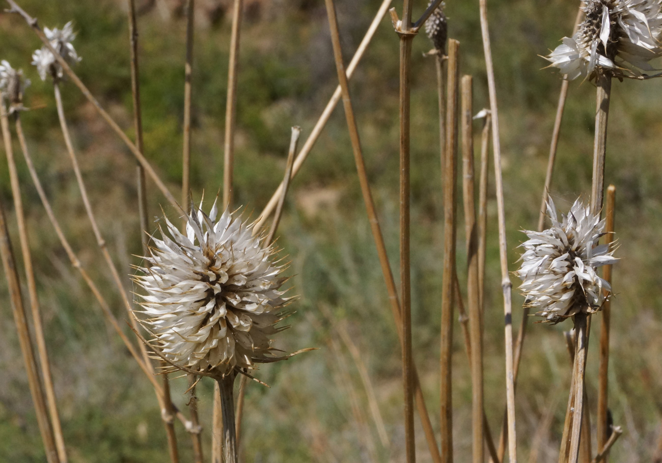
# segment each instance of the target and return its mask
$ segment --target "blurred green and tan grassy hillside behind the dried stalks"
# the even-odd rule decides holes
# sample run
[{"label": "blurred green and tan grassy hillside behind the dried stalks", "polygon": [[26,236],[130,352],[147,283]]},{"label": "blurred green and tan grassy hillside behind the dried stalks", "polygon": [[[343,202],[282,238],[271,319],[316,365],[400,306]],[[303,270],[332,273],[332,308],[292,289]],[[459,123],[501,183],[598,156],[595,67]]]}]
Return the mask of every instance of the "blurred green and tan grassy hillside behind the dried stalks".
[{"label": "blurred green and tan grassy hillside behind the dried stalks", "polygon": [[[75,47],[83,58],[76,72],[104,107],[133,136],[128,27],[124,0],[20,4],[42,25],[74,21]],[[176,0],[138,2],[145,155],[179,197],[183,117],[185,19]],[[222,187],[222,142],[230,9],[228,0],[198,1],[193,66],[193,196],[211,205]],[[312,0],[246,2],[242,26],[236,132],[236,205],[253,217],[271,197],[285,168],[289,133],[306,137],[336,86],[336,70],[324,3]],[[346,62],[358,46],[379,1],[338,0]],[[475,111],[487,103],[487,79],[476,1],[448,1],[449,36],[461,42],[461,72],[475,79]],[[401,9],[402,2],[394,6]],[[414,15],[423,1],[414,2]],[[510,270],[515,270],[521,229],[532,229],[544,183],[560,76],[539,55],[573,27],[577,2],[492,0],[489,19],[500,108],[504,193]],[[0,59],[32,79],[23,113],[28,145],[66,234],[120,318],[126,317],[102,263],[75,186],[58,121],[52,87],[30,66],[38,38],[17,15],[0,15]],[[387,17],[379,26],[350,85],[373,194],[392,267],[398,255],[398,38]],[[433,425],[438,429],[442,194],[436,74],[431,48],[421,34],[412,54],[412,322],[418,364]],[[650,461],[662,415],[662,82],[615,81],[608,134],[606,179],[617,187],[616,231],[622,258],[614,270],[610,408],[624,435],[614,462]],[[63,89],[81,168],[115,262],[131,289],[130,265],[139,262],[140,232],[135,162],[70,83]],[[570,85],[551,195],[567,210],[591,186],[594,86]],[[481,124],[476,123],[476,133]],[[477,145],[478,146],[478,145]],[[15,142],[17,153],[19,146]],[[19,156],[20,158],[20,156]],[[166,435],[150,384],[105,323],[99,306],[68,263],[21,160],[23,199],[30,225],[46,342],[54,368],[64,437],[71,462],[166,462]],[[493,169],[491,168],[491,172]],[[494,185],[491,178],[491,185]],[[150,217],[176,217],[150,183]],[[493,189],[493,187],[492,187]],[[0,162],[0,193],[15,231],[7,166]],[[459,207],[461,211],[461,207]],[[496,240],[496,199],[489,195],[489,242],[485,312],[485,407],[493,434],[503,413],[503,309]],[[460,212],[461,214],[461,212]],[[155,227],[154,227],[155,228]],[[287,362],[263,366],[250,384],[242,433],[242,458],[255,462],[402,461],[400,348],[391,319],[342,109],[337,109],[301,174],[293,181],[279,229],[283,255],[291,260],[294,291],[291,328],[279,335],[284,350],[318,347]],[[17,236],[14,237],[15,247]],[[457,265],[465,280],[463,227]],[[522,297],[514,280],[514,324]],[[5,280],[0,282],[0,461],[40,462],[44,453]],[[596,317],[599,320],[600,315]],[[558,326],[530,325],[518,382],[520,460],[557,460],[570,363]],[[599,324],[594,323],[587,372],[595,412]],[[347,340],[360,352],[352,356]],[[456,325],[453,340],[453,404],[456,461],[471,452],[471,378]],[[358,368],[375,389],[387,440],[381,440],[367,405]],[[185,379],[173,381],[173,400],[184,407]],[[203,440],[209,456],[212,384],[198,388]],[[549,429],[542,417],[551,411]],[[594,420],[593,420],[594,421]],[[418,426],[419,461],[430,461]],[[593,423],[594,426],[594,423]],[[191,441],[177,425],[180,456],[192,461]],[[536,440],[534,436],[540,435]],[[534,442],[538,442],[534,444]],[[537,447],[533,448],[532,447]],[[205,458],[207,458],[207,456]]]}]

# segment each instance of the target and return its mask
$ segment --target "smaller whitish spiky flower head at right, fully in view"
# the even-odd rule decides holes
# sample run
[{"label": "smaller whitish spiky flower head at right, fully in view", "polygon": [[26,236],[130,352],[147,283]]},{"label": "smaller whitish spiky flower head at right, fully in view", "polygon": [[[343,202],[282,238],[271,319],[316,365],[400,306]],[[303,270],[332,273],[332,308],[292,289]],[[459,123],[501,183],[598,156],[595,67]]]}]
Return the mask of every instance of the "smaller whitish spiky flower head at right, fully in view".
[{"label": "smaller whitish spiky flower head at right, fully in view", "polygon": [[553,201],[547,203],[551,228],[543,232],[524,231],[529,239],[522,244],[522,266],[516,272],[522,279],[522,293],[529,307],[539,310],[547,322],[559,323],[579,312],[594,313],[606,300],[608,282],[596,268],[614,264],[614,248],[598,245],[604,235],[604,220],[593,215],[579,199],[559,223]]}]

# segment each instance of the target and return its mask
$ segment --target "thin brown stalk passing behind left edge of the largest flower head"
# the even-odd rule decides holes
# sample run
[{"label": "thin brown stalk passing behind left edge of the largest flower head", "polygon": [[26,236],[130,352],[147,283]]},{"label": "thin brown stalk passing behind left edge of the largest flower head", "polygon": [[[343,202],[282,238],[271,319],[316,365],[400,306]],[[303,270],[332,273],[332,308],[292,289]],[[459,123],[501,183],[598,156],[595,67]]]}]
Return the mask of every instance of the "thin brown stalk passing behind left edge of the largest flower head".
[{"label": "thin brown stalk passing behind left edge of the largest flower head", "polygon": [[[130,41],[130,59],[131,59],[131,95],[133,98],[133,121],[136,130],[136,148],[144,152],[142,140],[142,106],[140,105],[140,68],[138,66],[138,25],[136,21],[136,3],[134,0],[128,0],[128,31]],[[140,218],[140,239],[142,242],[142,255],[147,256],[150,236],[148,235],[148,211],[147,211],[147,189],[145,184],[145,170],[136,162],[136,187],[138,189],[138,217]],[[143,352],[146,352],[143,350]],[[146,355],[143,355],[145,362],[149,362]],[[163,362],[162,366],[163,366]],[[168,453],[172,463],[179,462],[179,452],[177,450],[177,435],[175,434],[175,425],[173,422],[172,400],[170,398],[170,384],[167,374],[163,375],[164,399],[157,394],[159,405],[162,411],[162,419],[166,427],[166,436],[168,442]]]}]

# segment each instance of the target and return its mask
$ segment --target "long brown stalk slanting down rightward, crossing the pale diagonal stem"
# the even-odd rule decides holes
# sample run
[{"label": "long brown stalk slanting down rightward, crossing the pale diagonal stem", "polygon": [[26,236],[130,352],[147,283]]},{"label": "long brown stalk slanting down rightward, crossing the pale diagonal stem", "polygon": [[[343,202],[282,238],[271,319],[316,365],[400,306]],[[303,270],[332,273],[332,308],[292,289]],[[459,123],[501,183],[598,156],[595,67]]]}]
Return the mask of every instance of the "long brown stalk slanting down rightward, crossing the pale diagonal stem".
[{"label": "long brown stalk slanting down rightward, crossing the pale diagonal stem", "polygon": [[[383,6],[384,5],[387,5],[387,3],[385,2]],[[350,131],[350,138],[352,140],[352,150],[354,152],[354,160],[357,168],[357,173],[359,176],[359,185],[361,186],[361,194],[363,195],[363,202],[365,203],[366,211],[368,214],[371,232],[373,234],[373,240],[375,241],[375,246],[377,247],[377,254],[379,256],[379,262],[381,265],[382,274],[387,285],[387,291],[389,293],[389,301],[391,302],[391,311],[393,313],[393,318],[395,320],[397,331],[400,336],[403,356],[406,356],[406,351],[407,351],[406,345],[409,344],[408,353],[410,359],[410,354],[411,354],[410,338],[407,337],[406,334],[407,330],[404,328],[404,326],[407,325],[407,323],[409,323],[410,326],[410,321],[407,322],[405,320],[404,311],[401,310],[401,307],[404,307],[404,304],[401,306],[398,301],[397,290],[395,289],[395,281],[393,280],[393,274],[391,273],[391,266],[389,264],[389,259],[386,252],[386,246],[384,244],[381,228],[379,226],[377,211],[375,209],[369,182],[367,180],[367,172],[365,170],[365,162],[363,160],[361,142],[359,140],[358,129],[354,118],[354,109],[352,107],[352,99],[349,92],[348,76],[351,75],[351,72],[350,70],[346,72],[344,68],[344,63],[342,60],[342,48],[340,47],[340,34],[338,32],[338,21],[336,19],[336,11],[333,2],[327,0],[326,7],[329,17],[329,26],[331,30],[332,44],[334,46],[334,58],[336,61],[336,70],[338,71],[338,81],[340,83],[339,87],[343,95],[343,104],[348,123],[348,129]],[[365,43],[367,44],[367,42]],[[310,140],[310,138],[308,140]],[[410,336],[410,328],[408,333]],[[409,339],[408,342],[407,339]],[[424,397],[422,391],[420,390],[420,382],[418,381],[418,374],[416,372],[416,368],[414,364],[410,362],[410,360],[409,360],[410,363],[408,363],[408,361],[405,360],[404,358],[403,360],[404,360],[403,379],[405,383],[405,397],[406,397],[405,398],[406,423],[408,423],[408,418],[410,416],[413,419],[413,409],[412,407],[408,407],[408,405],[411,405],[408,402],[408,399],[411,398],[412,395],[415,395],[416,405],[418,408],[418,415],[420,417],[424,429],[424,433],[426,435],[426,440],[428,442],[430,454],[432,455],[432,459],[435,462],[438,462],[440,461],[439,450],[437,447],[436,439],[434,438],[434,431],[432,430],[432,425],[430,423],[428,411],[424,403]],[[409,382],[411,384],[409,384]],[[411,386],[411,389],[408,389],[406,386]],[[412,430],[410,431],[412,432]],[[408,433],[406,433],[406,437],[409,438]],[[413,457],[414,450],[411,447],[412,445],[410,445],[410,447],[408,447],[407,450],[408,458],[414,458]]]}]

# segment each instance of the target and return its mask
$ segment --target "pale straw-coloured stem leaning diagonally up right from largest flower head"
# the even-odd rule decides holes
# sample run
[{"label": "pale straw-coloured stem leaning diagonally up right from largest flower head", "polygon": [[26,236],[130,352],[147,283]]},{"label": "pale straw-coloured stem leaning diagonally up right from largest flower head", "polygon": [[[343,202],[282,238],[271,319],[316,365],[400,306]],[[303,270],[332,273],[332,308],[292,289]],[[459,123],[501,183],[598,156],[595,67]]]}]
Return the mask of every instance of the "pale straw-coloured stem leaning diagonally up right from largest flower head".
[{"label": "pale straw-coloured stem leaning diagonally up right from largest flower head", "polygon": [[[354,53],[354,57],[352,58],[352,61],[350,62],[349,66],[347,67],[347,78],[351,79],[352,75],[354,75],[354,71],[356,70],[356,66],[359,64],[361,61],[361,58],[363,58],[363,54],[365,53],[365,50],[372,40],[373,36],[375,35],[375,32],[377,31],[377,27],[379,26],[379,23],[381,23],[381,20],[384,18],[384,15],[386,15],[387,10],[389,9],[389,5],[391,5],[391,1],[393,0],[383,0],[381,3],[381,6],[379,7],[379,11],[377,11],[377,14],[375,15],[375,18],[373,19],[371,25],[369,26],[367,32],[365,32],[365,36],[363,36],[363,40],[361,40],[361,43],[359,44],[358,48],[356,49],[356,52]],[[326,107],[324,108],[324,111],[322,111],[322,115],[320,115],[320,118],[315,124],[315,127],[312,129],[310,132],[310,135],[308,135],[308,138],[306,142],[303,144],[301,147],[301,151],[299,151],[299,154],[297,154],[297,158],[295,159],[294,166],[292,168],[292,178],[294,178],[297,173],[299,172],[299,169],[301,169],[301,166],[303,165],[303,162],[308,158],[308,154],[310,154],[310,150],[312,150],[312,147],[314,146],[315,142],[319,138],[320,134],[322,133],[322,130],[326,126],[326,123],[328,122],[329,118],[331,117],[331,114],[333,113],[334,109],[336,108],[336,105],[338,105],[338,101],[340,101],[340,96],[342,94],[342,91],[340,89],[340,84],[338,84],[338,87],[336,87],[336,91],[334,91],[333,96],[329,100],[329,102],[326,104]],[[264,223],[269,219],[269,215],[273,212],[273,209],[275,209],[278,199],[281,197],[281,193],[283,191],[283,183],[281,183],[276,191],[273,192],[273,195],[271,195],[271,199],[269,199],[269,202],[267,205],[264,207],[263,211],[260,214],[260,219],[258,219],[258,222],[256,223],[256,226],[254,227],[255,231],[258,231],[261,229],[261,227],[264,225]]]}]

